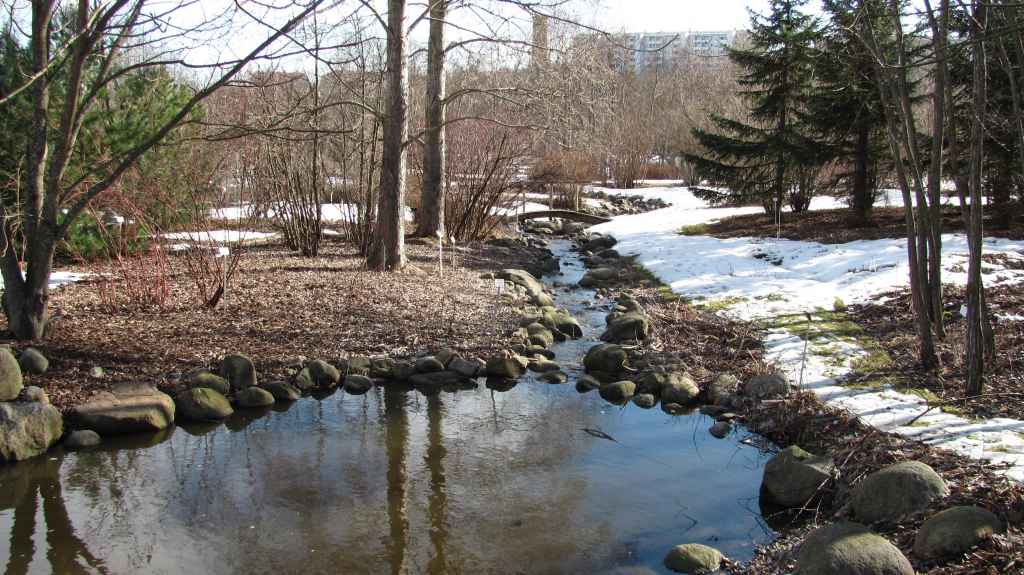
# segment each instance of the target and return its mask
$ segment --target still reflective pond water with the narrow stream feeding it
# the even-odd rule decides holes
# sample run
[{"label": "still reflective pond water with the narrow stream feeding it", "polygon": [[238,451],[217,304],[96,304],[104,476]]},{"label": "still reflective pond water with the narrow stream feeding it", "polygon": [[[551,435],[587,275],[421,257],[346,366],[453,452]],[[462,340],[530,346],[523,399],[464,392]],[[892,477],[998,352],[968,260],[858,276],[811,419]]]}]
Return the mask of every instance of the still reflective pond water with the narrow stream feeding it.
[{"label": "still reflective pond water with the narrow stream feeding it", "polygon": [[[583,274],[568,248],[549,285]],[[606,309],[552,291],[584,327],[554,348],[568,384],[339,391],[0,467],[6,572],[665,573],[684,542],[750,559],[772,536],[766,457],[697,412],[578,394]]]}]

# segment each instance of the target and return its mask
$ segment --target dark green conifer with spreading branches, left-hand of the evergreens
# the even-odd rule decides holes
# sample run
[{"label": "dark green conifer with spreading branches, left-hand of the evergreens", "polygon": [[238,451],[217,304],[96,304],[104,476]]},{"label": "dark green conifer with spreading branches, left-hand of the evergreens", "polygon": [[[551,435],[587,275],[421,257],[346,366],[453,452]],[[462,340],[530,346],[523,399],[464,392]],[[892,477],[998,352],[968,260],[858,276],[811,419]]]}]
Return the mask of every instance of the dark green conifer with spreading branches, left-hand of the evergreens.
[{"label": "dark green conifer with spreading branches, left-hand of the evergreens", "polygon": [[805,4],[771,0],[767,15],[752,13],[749,47],[729,50],[742,71],[750,123],[713,116],[715,131],[693,131],[707,153],[687,157],[702,177],[728,186],[731,200],[760,201],[772,216],[786,203],[807,208],[823,162],[803,120],[821,35]]}]

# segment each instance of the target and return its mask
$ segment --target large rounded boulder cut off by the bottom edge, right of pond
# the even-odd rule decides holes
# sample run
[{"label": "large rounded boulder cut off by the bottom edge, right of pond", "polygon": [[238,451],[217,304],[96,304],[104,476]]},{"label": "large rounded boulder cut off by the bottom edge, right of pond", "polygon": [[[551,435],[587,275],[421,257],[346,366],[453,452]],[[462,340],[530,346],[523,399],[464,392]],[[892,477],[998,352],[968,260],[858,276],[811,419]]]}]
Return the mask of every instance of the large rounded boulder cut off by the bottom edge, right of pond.
[{"label": "large rounded boulder cut off by the bottom edge, right of pond", "polygon": [[913,575],[896,545],[857,523],[812,531],[797,552],[794,575]]}]

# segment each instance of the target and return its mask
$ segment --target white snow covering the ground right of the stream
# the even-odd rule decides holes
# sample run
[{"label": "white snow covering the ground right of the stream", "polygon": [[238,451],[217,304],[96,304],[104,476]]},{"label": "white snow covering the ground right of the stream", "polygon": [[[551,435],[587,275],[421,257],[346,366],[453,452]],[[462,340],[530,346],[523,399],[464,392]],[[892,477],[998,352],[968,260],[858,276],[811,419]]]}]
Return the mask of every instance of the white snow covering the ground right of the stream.
[{"label": "white snow covering the ground right of the stream", "polygon": [[[904,240],[860,240],[841,245],[774,238],[718,239],[680,235],[683,226],[758,213],[758,208],[708,208],[685,188],[605,190],[662,197],[671,208],[621,216],[593,231],[618,239],[615,249],[637,261],[688,298],[718,300],[727,313],[740,319],[770,319],[790,314],[831,310],[837,298],[844,303],[878,301],[881,294],[907,284]],[[882,205],[902,205],[889,193]],[[841,205],[816,197],[812,209]],[[964,283],[967,240],[962,234],[943,236],[945,281]],[[989,254],[1024,260],[1024,242],[990,238]],[[1024,281],[1024,271],[986,264],[986,285]],[[1009,311],[1009,310],[1008,310]],[[1017,319],[1014,314],[1006,320]],[[772,321],[769,321],[771,324]],[[775,321],[774,323],[778,323]],[[793,330],[800,331],[794,327]],[[805,353],[811,346],[791,329],[775,327],[765,340],[767,359],[785,371],[795,384],[813,390],[823,401],[847,409],[885,431],[915,437],[959,453],[1011,467],[1006,474],[1024,481],[1024,422],[1008,418],[968,419],[938,408],[928,411],[925,399],[891,388],[863,389],[841,384],[851,372],[851,361],[866,355],[855,341],[837,338],[828,354]],[[915,419],[916,417],[916,419]]]}]

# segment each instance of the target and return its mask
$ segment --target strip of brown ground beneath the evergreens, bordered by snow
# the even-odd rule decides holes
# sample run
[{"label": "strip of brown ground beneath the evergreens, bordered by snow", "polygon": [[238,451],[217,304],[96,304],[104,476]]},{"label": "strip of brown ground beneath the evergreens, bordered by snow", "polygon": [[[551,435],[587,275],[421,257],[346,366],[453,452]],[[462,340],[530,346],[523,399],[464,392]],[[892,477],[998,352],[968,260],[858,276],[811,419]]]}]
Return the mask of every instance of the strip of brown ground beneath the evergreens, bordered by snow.
[{"label": "strip of brown ground beneath the evergreens, bordered by snow", "polygon": [[[1019,219],[1009,228],[993,228],[988,222],[985,228],[999,237],[1024,238],[1024,222]],[[963,231],[964,222],[958,208],[945,209],[942,229],[946,232]],[[775,237],[778,233],[786,239],[845,244],[856,239],[906,237],[906,223],[902,208],[876,208],[872,222],[861,227],[850,227],[849,210],[820,210],[784,214],[781,231],[765,214],[750,214],[708,224],[707,228],[701,228],[696,233],[715,237]]]}]

